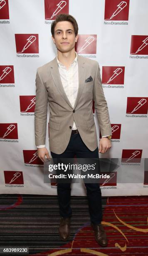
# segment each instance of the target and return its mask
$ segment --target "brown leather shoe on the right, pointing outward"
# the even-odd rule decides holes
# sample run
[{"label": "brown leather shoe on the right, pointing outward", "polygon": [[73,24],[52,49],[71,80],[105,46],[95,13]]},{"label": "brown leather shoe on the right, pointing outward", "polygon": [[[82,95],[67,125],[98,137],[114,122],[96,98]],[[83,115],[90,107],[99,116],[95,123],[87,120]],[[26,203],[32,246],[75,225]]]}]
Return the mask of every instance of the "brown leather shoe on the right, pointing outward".
[{"label": "brown leather shoe on the right, pointing outward", "polygon": [[94,224],[91,222],[91,227],[94,229],[94,235],[97,243],[101,246],[107,246],[107,238],[102,224]]}]

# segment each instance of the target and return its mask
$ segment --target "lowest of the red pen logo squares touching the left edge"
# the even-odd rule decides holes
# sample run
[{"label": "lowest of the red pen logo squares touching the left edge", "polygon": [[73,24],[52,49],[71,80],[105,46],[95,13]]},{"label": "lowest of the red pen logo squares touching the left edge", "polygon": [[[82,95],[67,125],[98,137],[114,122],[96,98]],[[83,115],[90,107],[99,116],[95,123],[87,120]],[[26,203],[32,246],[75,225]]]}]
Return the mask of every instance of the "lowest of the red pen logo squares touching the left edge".
[{"label": "lowest of the red pen logo squares touching the left edge", "polygon": [[18,139],[17,123],[0,123],[1,139]]}]

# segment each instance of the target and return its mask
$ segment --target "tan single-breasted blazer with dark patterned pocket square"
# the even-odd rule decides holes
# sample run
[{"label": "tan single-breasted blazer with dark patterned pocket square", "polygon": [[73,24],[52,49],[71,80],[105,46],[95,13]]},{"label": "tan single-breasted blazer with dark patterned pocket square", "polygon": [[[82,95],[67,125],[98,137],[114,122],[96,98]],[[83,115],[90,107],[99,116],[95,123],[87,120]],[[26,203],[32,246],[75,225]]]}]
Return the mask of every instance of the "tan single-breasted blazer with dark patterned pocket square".
[{"label": "tan single-breasted blazer with dark patterned pocket square", "polygon": [[97,148],[93,100],[101,136],[111,135],[111,123],[98,62],[78,54],[78,70],[79,89],[72,108],[62,86],[56,57],[37,69],[35,143],[45,144],[49,102],[49,149],[56,154],[62,154],[67,148],[74,122],[86,146],[91,151]]}]

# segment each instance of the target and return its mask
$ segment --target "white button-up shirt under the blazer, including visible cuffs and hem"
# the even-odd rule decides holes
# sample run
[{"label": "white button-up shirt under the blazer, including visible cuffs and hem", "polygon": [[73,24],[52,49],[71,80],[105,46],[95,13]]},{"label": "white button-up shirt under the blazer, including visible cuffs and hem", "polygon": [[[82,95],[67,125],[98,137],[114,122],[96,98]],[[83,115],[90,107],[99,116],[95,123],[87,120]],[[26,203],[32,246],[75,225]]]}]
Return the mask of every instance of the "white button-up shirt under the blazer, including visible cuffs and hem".
[{"label": "white button-up shirt under the blazer, including visible cuffs and hem", "polygon": [[[76,51],[75,51],[76,53]],[[64,91],[72,105],[74,107],[74,103],[76,100],[76,95],[78,92],[78,87],[79,87],[79,72],[78,72],[78,57],[76,53],[76,57],[74,61],[72,61],[69,69],[67,68],[58,60],[57,58],[57,64],[59,68],[59,74],[61,77],[62,85],[64,88]],[[76,130],[76,124],[75,122],[73,123],[72,130]],[[106,137],[106,136],[102,136]],[[37,148],[44,148],[45,145],[39,145]]]}]

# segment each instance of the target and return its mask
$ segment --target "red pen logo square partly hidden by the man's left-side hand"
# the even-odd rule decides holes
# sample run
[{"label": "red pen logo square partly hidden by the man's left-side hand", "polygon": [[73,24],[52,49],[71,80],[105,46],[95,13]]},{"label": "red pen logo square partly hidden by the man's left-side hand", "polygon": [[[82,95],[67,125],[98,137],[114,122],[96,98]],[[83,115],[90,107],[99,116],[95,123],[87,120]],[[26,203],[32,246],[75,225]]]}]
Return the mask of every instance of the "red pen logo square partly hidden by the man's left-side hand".
[{"label": "red pen logo square partly hidden by the man's left-side hand", "polygon": [[37,150],[23,150],[23,156],[25,164],[44,164],[37,156]]}]

